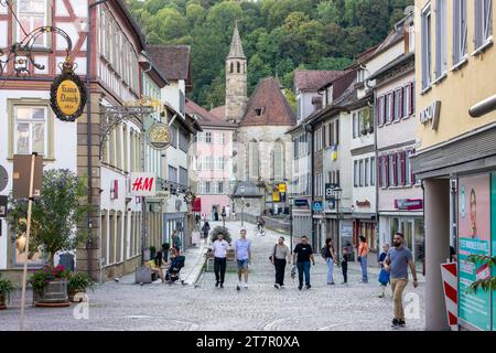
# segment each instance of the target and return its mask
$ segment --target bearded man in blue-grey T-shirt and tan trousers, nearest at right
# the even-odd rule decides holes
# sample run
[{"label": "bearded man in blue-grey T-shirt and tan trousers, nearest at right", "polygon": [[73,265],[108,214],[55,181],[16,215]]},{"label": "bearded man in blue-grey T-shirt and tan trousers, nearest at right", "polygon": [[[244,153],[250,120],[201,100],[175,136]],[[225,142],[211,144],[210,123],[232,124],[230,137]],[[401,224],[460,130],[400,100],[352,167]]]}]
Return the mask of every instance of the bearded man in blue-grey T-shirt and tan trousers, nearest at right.
[{"label": "bearded man in blue-grey T-shirt and tan trousers, nearest at right", "polygon": [[401,296],[405,287],[408,285],[408,266],[410,266],[411,275],[413,277],[413,287],[417,288],[417,286],[419,286],[413,256],[403,243],[405,236],[401,233],[395,233],[395,237],[392,238],[393,247],[389,249],[384,261],[385,269],[389,271],[391,278],[392,301],[395,303],[395,318],[392,319],[393,328],[405,327],[406,324]]}]

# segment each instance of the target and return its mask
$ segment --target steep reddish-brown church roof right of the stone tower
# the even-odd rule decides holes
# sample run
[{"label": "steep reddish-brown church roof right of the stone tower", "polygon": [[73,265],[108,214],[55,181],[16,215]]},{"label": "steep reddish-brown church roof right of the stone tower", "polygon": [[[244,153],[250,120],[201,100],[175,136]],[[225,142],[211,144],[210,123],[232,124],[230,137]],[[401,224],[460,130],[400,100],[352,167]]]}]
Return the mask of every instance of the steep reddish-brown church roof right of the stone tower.
[{"label": "steep reddish-brown church roof right of the stone tower", "polygon": [[261,79],[248,100],[239,126],[292,126],[296,118],[273,77]]}]

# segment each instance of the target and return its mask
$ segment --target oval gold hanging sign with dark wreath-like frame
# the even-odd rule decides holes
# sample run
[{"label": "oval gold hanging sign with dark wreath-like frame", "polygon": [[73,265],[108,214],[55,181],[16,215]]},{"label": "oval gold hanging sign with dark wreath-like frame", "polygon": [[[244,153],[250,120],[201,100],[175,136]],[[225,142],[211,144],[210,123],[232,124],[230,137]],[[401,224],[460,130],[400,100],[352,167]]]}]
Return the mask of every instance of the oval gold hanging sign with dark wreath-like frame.
[{"label": "oval gold hanging sign with dark wreath-like frame", "polygon": [[86,89],[79,76],[74,74],[74,64],[69,58],[62,66],[62,74],[55,78],[50,90],[50,105],[62,121],[75,121],[86,105]]}]

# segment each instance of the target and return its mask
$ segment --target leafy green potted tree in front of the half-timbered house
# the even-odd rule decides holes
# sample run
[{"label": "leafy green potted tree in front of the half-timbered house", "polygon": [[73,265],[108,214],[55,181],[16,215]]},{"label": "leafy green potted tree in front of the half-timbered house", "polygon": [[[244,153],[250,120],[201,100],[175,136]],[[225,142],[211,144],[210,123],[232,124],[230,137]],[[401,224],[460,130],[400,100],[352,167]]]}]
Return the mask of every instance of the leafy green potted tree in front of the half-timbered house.
[{"label": "leafy green potted tree in front of the half-timbered house", "polygon": [[[55,253],[73,250],[86,239],[86,232],[77,227],[89,210],[83,201],[86,190],[83,180],[69,170],[43,173],[42,197],[32,206],[30,248],[46,254],[50,265]],[[11,196],[7,222],[14,240],[25,235],[26,218],[28,201]]]}]

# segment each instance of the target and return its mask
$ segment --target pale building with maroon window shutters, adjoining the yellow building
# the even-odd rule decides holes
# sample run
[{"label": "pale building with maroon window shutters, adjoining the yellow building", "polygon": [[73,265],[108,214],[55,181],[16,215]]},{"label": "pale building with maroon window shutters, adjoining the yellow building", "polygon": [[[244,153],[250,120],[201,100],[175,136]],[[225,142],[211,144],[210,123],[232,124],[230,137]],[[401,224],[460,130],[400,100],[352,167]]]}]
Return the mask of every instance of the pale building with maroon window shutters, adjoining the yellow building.
[{"label": "pale building with maroon window shutters, adjoining the yellow building", "polygon": [[396,44],[405,49],[403,53],[369,76],[368,84],[374,87],[375,96],[379,246],[392,244],[393,234],[402,233],[418,269],[423,272],[423,192],[410,165],[418,117],[411,20],[406,18],[393,29],[405,33],[405,41]]}]

